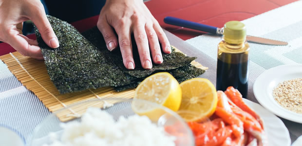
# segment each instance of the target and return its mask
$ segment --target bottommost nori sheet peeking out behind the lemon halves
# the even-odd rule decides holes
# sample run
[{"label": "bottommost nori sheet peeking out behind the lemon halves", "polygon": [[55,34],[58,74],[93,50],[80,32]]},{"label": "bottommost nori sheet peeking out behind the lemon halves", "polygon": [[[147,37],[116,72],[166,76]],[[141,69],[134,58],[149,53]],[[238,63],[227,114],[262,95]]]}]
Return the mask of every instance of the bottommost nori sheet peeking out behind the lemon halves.
[{"label": "bottommost nori sheet peeking out behind the lemon halves", "polygon": [[[198,75],[205,73],[205,72],[206,72],[205,70],[196,68],[195,66],[193,66],[191,64],[184,66],[184,67],[180,67],[178,69],[173,69],[173,70],[168,71],[168,73],[172,74],[179,83],[181,83],[185,80],[188,80],[190,78],[197,77]],[[143,78],[138,78],[137,82],[135,82],[135,83],[130,83],[130,84],[126,84],[123,86],[114,87],[114,89],[116,91],[124,91],[124,90],[130,89],[130,88],[136,88],[142,80],[143,80]]]}]

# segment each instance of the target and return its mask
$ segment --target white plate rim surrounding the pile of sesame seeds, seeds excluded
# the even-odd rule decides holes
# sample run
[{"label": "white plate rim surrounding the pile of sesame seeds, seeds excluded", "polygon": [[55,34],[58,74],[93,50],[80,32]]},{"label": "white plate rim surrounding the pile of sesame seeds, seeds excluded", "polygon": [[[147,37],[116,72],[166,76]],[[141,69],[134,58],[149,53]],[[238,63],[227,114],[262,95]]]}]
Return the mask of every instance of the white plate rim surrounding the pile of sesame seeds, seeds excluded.
[{"label": "white plate rim surrounding the pile of sesame seeds, seeds excluded", "polygon": [[282,65],[264,71],[256,79],[253,91],[258,102],[267,110],[284,119],[302,123],[302,114],[286,110],[273,97],[273,89],[280,82],[302,78],[302,64]]}]

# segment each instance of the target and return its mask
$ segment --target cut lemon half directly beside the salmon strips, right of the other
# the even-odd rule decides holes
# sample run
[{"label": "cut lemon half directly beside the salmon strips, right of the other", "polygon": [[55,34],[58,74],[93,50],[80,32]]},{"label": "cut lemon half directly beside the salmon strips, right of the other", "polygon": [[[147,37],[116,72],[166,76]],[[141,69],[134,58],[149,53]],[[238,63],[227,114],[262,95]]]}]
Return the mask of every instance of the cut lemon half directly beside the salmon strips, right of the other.
[{"label": "cut lemon half directly beside the salmon strips, right of the other", "polygon": [[182,101],[178,113],[187,122],[201,121],[214,113],[217,106],[217,92],[208,79],[189,79],[182,82],[180,87]]}]

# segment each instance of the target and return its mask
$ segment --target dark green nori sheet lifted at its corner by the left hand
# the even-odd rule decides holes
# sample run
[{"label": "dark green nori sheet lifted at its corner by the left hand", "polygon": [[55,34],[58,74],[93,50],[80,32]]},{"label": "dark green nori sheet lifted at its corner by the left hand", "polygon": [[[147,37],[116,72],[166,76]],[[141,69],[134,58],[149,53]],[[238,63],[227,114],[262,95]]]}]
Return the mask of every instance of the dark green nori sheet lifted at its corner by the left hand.
[{"label": "dark green nori sheet lifted at its corner by the left hand", "polygon": [[136,78],[124,73],[113,60],[107,59],[72,25],[47,16],[60,43],[52,49],[35,32],[45,59],[48,74],[60,93],[96,89],[105,86],[122,86]]}]

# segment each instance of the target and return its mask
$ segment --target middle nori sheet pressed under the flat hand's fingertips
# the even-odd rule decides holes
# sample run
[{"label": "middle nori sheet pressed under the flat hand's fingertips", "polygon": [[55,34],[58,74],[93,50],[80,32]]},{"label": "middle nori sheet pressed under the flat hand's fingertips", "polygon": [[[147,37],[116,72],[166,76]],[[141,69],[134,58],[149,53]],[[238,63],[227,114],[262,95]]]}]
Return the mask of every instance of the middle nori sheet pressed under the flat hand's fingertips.
[{"label": "middle nori sheet pressed under the flat hand's fingertips", "polygon": [[[94,27],[88,30],[87,32],[84,32],[83,36],[86,37],[90,42],[92,42],[97,48],[107,50],[104,38],[100,33],[100,31],[97,29],[97,27]],[[165,54],[162,52],[163,55],[162,64],[158,65],[152,62],[152,66],[153,66],[152,69],[145,70],[141,66],[141,62],[139,59],[139,55],[134,39],[132,39],[132,48],[133,48],[132,49],[133,58],[135,62],[134,70],[128,70],[125,68],[119,48],[115,49],[108,57],[111,57],[111,59],[114,60],[117,66],[119,66],[120,69],[122,69],[125,73],[129,73],[130,75],[138,78],[146,77],[152,74],[153,72],[159,70],[167,71],[167,70],[177,69],[179,67],[188,65],[190,62],[196,59],[196,57],[189,57],[180,52],[175,52],[175,49],[171,48],[172,50],[171,54]]]}]

